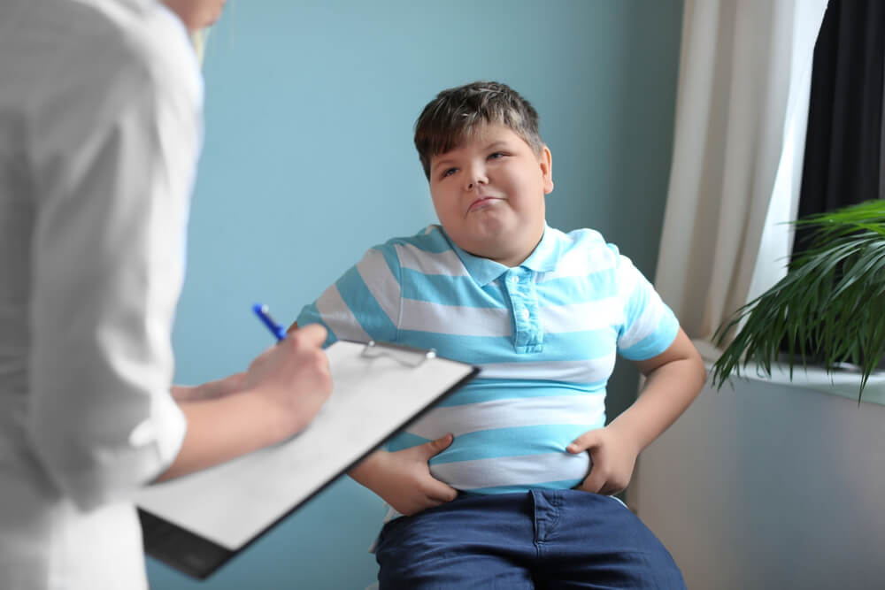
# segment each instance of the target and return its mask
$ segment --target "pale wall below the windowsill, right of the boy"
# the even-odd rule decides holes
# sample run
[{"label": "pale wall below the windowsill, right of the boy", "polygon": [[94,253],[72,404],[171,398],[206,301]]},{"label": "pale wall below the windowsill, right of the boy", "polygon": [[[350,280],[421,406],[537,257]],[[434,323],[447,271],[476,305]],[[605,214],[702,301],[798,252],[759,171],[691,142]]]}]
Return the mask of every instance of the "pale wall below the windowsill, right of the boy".
[{"label": "pale wall below the windowsill, right of the boy", "polygon": [[627,496],[689,589],[885,587],[885,406],[732,382],[643,452]]}]

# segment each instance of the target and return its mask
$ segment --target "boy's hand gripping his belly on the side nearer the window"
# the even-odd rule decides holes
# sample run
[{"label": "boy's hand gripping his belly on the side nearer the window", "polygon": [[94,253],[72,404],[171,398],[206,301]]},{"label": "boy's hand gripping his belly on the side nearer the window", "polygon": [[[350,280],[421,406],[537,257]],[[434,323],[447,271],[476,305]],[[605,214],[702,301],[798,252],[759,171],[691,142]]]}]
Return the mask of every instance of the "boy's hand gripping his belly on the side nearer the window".
[{"label": "boy's hand gripping his belly on the side nearer the window", "polygon": [[574,455],[586,450],[590,455],[590,473],[577,489],[610,495],[630,483],[640,449],[635,448],[631,437],[609,425],[581,434],[566,450]]}]

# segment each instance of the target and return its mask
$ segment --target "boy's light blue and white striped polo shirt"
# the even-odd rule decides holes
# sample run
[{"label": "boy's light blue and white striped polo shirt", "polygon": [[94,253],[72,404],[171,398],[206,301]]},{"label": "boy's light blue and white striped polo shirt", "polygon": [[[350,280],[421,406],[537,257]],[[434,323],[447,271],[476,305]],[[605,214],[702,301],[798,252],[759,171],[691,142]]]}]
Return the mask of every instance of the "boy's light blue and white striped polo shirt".
[{"label": "boy's light blue and white striped polo shirt", "polygon": [[581,483],[589,456],[566,446],[605,424],[616,353],[657,356],[679,327],[649,281],[601,234],[550,226],[514,268],[468,254],[440,226],[389,240],[297,321],[326,326],[327,344],[389,341],[481,368],[388,447],[453,433],[430,471],[468,494]]}]

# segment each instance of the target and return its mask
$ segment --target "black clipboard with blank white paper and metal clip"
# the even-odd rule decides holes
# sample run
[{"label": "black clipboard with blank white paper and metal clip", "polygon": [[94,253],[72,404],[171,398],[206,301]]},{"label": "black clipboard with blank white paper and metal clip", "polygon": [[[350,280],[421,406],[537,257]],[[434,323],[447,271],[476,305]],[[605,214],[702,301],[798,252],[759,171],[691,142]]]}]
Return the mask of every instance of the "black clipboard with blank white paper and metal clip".
[{"label": "black clipboard with blank white paper and metal clip", "polygon": [[336,341],[326,353],[332,395],[304,431],[136,494],[147,555],[208,578],[480,371],[375,341]]}]

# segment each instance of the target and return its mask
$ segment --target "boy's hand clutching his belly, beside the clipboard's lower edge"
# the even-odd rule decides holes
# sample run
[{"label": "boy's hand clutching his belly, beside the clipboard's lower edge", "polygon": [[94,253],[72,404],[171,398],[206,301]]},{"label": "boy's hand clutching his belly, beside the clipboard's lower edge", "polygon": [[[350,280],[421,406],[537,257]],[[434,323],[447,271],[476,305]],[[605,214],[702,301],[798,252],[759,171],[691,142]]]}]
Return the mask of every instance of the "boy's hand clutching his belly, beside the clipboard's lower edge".
[{"label": "boy's hand clutching his belly, beside the clipboard's lower edge", "polygon": [[449,448],[454,437],[446,434],[423,445],[401,451],[375,451],[354,467],[349,475],[390,504],[397,512],[411,517],[422,510],[440,506],[458,497],[430,474],[427,462]]}]

